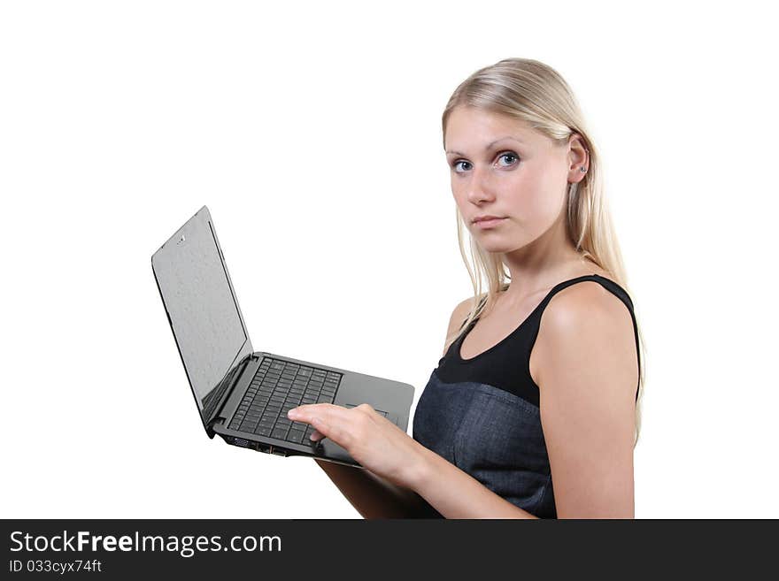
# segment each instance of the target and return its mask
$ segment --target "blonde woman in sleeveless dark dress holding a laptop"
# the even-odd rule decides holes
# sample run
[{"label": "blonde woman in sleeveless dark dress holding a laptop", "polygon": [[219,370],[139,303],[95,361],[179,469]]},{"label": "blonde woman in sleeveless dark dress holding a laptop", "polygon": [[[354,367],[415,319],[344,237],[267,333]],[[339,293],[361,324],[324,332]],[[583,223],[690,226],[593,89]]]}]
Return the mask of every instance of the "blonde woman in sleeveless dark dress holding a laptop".
[{"label": "blonde woman in sleeveless dark dress holding a laptop", "polygon": [[367,404],[289,412],[367,469],[317,461],[366,518],[634,517],[639,332],[587,134],[535,60],[451,96],[443,148],[479,272],[465,260],[474,297],[452,312],[413,437]]}]

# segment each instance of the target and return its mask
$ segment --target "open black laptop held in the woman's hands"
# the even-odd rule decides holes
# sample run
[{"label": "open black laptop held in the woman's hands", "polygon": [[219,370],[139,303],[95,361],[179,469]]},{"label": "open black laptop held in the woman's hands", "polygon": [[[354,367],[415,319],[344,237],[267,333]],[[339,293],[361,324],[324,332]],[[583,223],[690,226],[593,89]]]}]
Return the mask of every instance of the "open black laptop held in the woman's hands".
[{"label": "open black laptop held in the woman's hands", "polygon": [[[262,268],[258,261],[257,268]],[[310,424],[287,418],[306,403],[370,404],[406,431],[413,386],[251,347],[208,208],[151,256],[151,268],[206,434],[274,455],[305,455],[363,468],[333,440],[309,440]],[[324,326],[289,317],[301,333]]]}]

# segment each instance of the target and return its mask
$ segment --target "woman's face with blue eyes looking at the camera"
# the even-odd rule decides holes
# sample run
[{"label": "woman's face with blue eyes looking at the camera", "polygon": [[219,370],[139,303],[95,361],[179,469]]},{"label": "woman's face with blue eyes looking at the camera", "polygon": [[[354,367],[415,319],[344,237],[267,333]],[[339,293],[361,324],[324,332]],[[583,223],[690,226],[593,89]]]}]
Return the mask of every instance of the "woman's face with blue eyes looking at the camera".
[{"label": "woman's face with blue eyes looking at the camera", "polygon": [[[451,192],[484,250],[525,247],[559,218],[571,169],[569,148],[555,147],[522,121],[464,106],[451,111],[444,143]],[[474,224],[485,214],[503,219]]]}]

